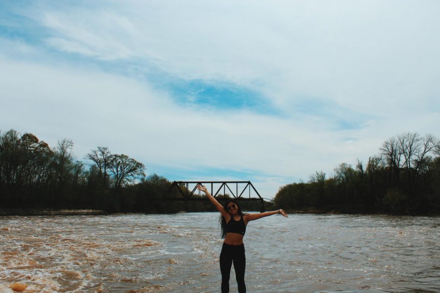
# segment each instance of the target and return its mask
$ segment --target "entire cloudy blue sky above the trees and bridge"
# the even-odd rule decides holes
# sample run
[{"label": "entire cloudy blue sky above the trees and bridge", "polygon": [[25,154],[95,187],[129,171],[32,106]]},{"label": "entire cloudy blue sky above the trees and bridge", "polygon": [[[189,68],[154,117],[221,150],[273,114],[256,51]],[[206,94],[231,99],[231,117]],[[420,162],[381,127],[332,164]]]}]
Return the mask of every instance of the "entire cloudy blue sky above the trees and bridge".
[{"label": "entire cloudy blue sky above the trees and bridge", "polygon": [[265,198],[440,136],[438,0],[0,1],[0,130]]}]

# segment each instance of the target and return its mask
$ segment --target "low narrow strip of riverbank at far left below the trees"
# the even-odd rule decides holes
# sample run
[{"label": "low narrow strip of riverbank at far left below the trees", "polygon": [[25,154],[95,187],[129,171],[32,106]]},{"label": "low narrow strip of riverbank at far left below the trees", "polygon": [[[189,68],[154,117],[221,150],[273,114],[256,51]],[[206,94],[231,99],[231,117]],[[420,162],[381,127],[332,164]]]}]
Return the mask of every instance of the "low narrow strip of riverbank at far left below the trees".
[{"label": "low narrow strip of riverbank at far left below the trees", "polygon": [[107,215],[98,209],[0,209],[0,216]]}]

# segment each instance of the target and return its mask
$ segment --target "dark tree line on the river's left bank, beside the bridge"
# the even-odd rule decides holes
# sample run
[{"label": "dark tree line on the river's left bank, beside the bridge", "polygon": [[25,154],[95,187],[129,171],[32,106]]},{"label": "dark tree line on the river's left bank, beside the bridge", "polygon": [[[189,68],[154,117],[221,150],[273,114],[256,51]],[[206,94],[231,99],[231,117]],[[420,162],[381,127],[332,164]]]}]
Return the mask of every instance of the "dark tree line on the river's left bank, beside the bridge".
[{"label": "dark tree line on the river's left bank, beside the bridge", "polygon": [[[169,202],[171,182],[146,176],[144,164],[98,146],[84,157],[73,154],[74,143],[55,147],[31,133],[0,130],[0,209],[97,209],[113,212],[167,213],[214,211],[209,202]],[[185,186],[181,186],[185,190]],[[226,195],[227,197],[228,195]],[[259,210],[257,203],[245,209]]]}]

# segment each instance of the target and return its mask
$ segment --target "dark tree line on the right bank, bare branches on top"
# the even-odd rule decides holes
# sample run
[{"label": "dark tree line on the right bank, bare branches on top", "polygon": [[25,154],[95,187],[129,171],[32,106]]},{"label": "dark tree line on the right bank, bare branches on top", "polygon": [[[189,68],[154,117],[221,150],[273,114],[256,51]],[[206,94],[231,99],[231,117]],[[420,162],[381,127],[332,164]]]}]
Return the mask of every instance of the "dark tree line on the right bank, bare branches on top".
[{"label": "dark tree line on the right bank, bare branches on top", "polygon": [[439,140],[418,132],[398,134],[365,164],[342,163],[330,177],[316,171],[307,183],[281,187],[274,200],[296,210],[439,214]]}]

